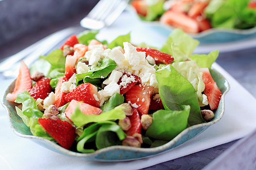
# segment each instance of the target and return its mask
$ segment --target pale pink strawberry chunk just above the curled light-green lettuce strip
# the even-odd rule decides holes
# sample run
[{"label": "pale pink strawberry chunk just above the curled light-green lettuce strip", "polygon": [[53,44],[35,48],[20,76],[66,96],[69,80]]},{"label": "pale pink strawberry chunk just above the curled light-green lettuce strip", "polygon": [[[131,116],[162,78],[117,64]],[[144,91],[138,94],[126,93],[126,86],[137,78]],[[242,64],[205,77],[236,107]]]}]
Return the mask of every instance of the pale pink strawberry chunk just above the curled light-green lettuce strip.
[{"label": "pale pink strawberry chunk just above the curled light-green lettuce strip", "polygon": [[[72,121],[71,115],[75,111],[78,104],[78,101],[72,100],[65,110],[65,115],[70,121]],[[80,102],[79,109],[84,115],[99,115],[102,112],[100,108],[82,102]]]}]

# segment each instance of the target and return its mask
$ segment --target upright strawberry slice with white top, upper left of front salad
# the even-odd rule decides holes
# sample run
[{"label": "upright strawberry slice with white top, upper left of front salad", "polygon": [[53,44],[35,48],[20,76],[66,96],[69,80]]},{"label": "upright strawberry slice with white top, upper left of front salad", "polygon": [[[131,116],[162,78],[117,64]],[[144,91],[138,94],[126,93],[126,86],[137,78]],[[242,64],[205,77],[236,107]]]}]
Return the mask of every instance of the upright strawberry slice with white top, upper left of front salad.
[{"label": "upright strawberry slice with white top, upper left of front salad", "polygon": [[76,73],[77,56],[67,55],[65,62],[65,76],[69,79],[74,73]]}]

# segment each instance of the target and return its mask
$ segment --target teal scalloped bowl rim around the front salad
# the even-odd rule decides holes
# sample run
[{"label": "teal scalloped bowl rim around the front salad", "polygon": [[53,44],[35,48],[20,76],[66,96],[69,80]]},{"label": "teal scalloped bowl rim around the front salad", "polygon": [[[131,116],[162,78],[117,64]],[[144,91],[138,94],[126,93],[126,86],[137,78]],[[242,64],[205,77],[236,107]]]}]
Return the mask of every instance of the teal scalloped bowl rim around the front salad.
[{"label": "teal scalloped bowl rim around the front salad", "polygon": [[218,108],[215,110],[215,118],[212,119],[210,122],[194,125],[183,130],[173,140],[156,148],[112,146],[100,149],[94,153],[76,153],[73,151],[66,150],[59,146],[58,144],[51,142],[50,140],[47,140],[45,138],[33,136],[29,128],[23,123],[22,119],[17,115],[15,110],[15,106],[17,104],[14,102],[8,102],[5,99],[6,95],[9,92],[12,92],[12,90],[14,89],[15,81],[11,85],[9,85],[9,87],[4,92],[2,105],[7,111],[9,124],[16,135],[28,138],[33,142],[56,153],[71,156],[78,159],[98,162],[136,160],[169,151],[199,135],[204,130],[206,130],[210,125],[217,123],[222,118],[224,114],[224,97],[226,93],[229,91],[230,85],[227,82],[227,80],[216,69],[211,69],[211,74],[213,79],[217,82],[217,86],[219,87],[220,91],[222,92],[222,97],[220,99]]}]

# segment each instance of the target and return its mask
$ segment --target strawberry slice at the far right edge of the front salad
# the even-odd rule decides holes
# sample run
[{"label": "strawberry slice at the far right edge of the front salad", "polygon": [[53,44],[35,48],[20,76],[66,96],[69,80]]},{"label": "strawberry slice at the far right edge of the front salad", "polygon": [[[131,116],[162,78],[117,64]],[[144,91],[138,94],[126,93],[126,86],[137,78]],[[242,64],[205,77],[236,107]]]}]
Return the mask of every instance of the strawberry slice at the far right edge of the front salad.
[{"label": "strawberry slice at the far right edge of the front salad", "polygon": [[205,84],[205,88],[203,93],[207,96],[208,103],[211,110],[214,110],[218,107],[220,98],[221,98],[221,92],[216,84],[214,82],[211,73],[208,68],[200,68],[200,71],[203,72],[202,79]]}]

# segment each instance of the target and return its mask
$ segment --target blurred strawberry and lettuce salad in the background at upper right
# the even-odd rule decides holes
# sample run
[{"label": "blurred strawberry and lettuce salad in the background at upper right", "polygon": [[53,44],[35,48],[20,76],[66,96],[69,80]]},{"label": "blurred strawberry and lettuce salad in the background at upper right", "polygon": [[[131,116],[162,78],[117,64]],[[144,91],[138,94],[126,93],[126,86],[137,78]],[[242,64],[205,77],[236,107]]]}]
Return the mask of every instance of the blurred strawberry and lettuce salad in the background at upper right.
[{"label": "blurred strawberry and lettuce salad in the background at upper right", "polygon": [[192,34],[256,26],[255,0],[132,0],[131,5],[142,20],[159,20]]}]

